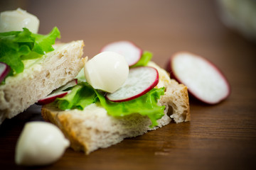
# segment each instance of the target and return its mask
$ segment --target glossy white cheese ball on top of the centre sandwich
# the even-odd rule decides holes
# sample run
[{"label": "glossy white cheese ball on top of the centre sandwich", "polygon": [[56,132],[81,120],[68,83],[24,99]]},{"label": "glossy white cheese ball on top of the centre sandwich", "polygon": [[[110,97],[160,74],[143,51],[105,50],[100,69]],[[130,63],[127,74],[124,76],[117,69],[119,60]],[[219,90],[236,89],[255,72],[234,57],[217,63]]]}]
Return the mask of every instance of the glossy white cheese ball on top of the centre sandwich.
[{"label": "glossy white cheese ball on top of the centre sandwich", "polygon": [[101,52],[85,63],[85,79],[94,88],[112,93],[119,89],[129,74],[129,65],[116,52]]}]

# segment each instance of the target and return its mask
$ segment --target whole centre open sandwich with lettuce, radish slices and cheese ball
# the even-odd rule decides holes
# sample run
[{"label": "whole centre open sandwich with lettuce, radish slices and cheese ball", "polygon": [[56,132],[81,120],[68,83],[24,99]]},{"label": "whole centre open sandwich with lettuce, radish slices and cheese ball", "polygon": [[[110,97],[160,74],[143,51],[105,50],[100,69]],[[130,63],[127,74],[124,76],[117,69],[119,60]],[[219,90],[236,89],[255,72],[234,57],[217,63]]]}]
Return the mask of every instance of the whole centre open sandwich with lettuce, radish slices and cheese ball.
[{"label": "whole centre open sandwich with lettuce, radish slices and cheese ball", "polygon": [[[151,57],[132,42],[106,45],[84,61],[77,84],[53,91],[54,100],[42,100],[43,118],[60,128],[70,147],[85,154],[171,120],[191,120],[187,87],[171,79]],[[60,91],[65,96],[59,96]]]}]

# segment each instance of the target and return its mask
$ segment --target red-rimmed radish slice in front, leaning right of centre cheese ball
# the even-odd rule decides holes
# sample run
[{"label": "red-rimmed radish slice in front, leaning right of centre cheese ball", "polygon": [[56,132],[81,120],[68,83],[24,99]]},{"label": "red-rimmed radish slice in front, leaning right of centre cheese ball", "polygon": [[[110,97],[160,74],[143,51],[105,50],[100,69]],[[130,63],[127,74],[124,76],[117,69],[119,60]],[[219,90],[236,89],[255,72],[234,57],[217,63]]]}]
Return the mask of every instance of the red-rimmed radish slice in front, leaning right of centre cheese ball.
[{"label": "red-rimmed radish slice in front, leaning right of centre cheese ball", "polygon": [[158,82],[159,74],[153,67],[134,67],[122,87],[106,97],[115,102],[130,101],[149,92]]}]

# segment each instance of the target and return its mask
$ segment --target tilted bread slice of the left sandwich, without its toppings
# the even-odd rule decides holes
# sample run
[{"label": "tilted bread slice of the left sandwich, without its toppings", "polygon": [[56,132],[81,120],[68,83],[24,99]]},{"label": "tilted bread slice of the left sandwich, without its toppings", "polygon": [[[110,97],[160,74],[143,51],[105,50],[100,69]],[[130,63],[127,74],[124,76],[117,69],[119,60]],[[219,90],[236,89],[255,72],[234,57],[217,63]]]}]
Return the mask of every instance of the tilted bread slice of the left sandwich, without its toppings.
[{"label": "tilted bread slice of the left sandwich, without its toppings", "polygon": [[82,40],[54,45],[55,50],[27,60],[22,73],[0,85],[0,124],[75,78],[83,66]]}]

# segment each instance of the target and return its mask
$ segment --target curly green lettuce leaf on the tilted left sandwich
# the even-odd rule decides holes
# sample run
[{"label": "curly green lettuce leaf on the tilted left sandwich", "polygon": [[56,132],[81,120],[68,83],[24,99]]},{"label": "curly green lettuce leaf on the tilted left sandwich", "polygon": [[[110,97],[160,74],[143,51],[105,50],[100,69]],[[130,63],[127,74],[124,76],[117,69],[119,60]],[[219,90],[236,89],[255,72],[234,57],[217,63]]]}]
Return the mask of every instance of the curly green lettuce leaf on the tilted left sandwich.
[{"label": "curly green lettuce leaf on the tilted left sandwich", "polygon": [[27,28],[0,33],[0,62],[11,67],[11,75],[21,73],[24,69],[22,60],[35,59],[53,51],[56,38],[60,38],[56,27],[48,35],[34,34]]}]

